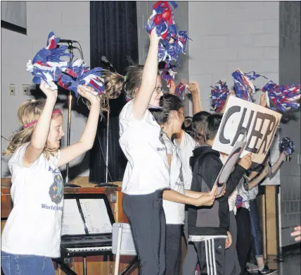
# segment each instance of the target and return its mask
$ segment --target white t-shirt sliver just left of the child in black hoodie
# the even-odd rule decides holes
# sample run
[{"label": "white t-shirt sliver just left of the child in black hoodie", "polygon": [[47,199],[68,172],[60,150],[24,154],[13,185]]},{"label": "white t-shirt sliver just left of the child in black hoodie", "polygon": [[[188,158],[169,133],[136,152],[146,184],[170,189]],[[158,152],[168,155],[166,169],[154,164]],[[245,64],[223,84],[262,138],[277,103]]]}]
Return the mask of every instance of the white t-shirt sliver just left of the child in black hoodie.
[{"label": "white t-shirt sliver just left of the child in black hoodie", "polygon": [[189,159],[193,155],[193,150],[198,146],[198,142],[193,140],[188,133],[183,130],[183,136],[181,139],[181,159],[182,159],[182,170],[183,170],[183,178],[184,178],[184,186],[185,189],[191,189],[191,181],[192,181],[192,170],[189,164]]}]

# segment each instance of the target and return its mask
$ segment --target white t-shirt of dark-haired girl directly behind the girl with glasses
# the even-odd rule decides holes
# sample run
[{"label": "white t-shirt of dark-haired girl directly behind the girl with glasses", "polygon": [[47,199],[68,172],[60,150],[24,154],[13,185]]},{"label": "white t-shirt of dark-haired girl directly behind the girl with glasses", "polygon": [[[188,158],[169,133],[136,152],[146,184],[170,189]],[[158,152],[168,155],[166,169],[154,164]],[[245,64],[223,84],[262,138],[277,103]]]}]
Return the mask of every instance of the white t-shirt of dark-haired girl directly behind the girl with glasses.
[{"label": "white t-shirt of dark-haired girl directly behind the girl with glasses", "polygon": [[[166,145],[167,154],[172,155],[172,163],[170,165],[170,187],[184,194],[184,180],[181,163],[181,149],[179,145],[169,140],[168,136],[163,133],[163,140]],[[163,200],[163,208],[165,212],[166,224],[184,224],[185,204],[178,202],[169,202]]]}]

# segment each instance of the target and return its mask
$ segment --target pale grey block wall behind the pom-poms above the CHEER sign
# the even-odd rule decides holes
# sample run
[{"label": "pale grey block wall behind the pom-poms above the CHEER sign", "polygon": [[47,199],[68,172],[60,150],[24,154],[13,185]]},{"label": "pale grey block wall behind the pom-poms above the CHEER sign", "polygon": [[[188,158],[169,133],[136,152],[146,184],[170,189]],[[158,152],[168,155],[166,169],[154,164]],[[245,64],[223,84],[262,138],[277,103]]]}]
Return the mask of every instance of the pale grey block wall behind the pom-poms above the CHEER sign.
[{"label": "pale grey block wall behind the pom-poms above the CHEER sign", "polygon": [[[278,82],[279,2],[278,1],[191,1],[188,6],[189,79],[200,85],[200,99],[210,111],[210,85],[226,80],[237,68],[256,71]],[[267,82],[254,81],[257,87]],[[259,102],[260,92],[255,94]],[[278,138],[271,149],[271,161],[278,157]],[[277,173],[265,184],[279,184]]]}]

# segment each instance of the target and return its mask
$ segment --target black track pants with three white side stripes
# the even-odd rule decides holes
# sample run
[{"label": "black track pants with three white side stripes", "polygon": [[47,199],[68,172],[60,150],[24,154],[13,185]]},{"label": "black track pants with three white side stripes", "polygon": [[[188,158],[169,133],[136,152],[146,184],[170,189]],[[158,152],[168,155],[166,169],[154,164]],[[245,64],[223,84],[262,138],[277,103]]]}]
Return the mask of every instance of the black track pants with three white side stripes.
[{"label": "black track pants with three white side stripes", "polygon": [[194,242],[198,252],[200,271],[207,267],[208,275],[224,275],[225,239],[217,238]]}]

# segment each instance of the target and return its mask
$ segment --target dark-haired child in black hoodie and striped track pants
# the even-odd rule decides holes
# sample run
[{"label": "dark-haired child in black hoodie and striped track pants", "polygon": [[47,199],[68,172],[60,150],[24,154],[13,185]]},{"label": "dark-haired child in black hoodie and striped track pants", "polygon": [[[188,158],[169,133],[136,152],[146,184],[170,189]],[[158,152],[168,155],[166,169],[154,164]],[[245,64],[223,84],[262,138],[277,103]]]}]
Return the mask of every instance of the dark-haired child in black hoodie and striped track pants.
[{"label": "dark-haired child in black hoodie and striped track pants", "polygon": [[[222,114],[212,114],[207,118],[207,126],[201,131],[198,130],[198,121],[191,123],[195,136],[205,140],[204,145],[193,150],[193,157],[190,159],[193,191],[210,191],[222,169],[219,152],[212,149],[221,121]],[[224,274],[224,251],[231,245],[228,197],[251,164],[251,154],[246,154],[233,169],[226,183],[224,196],[217,198],[212,207],[191,206],[188,209],[189,239],[198,252],[200,271],[202,272],[207,265],[208,275]]]}]

